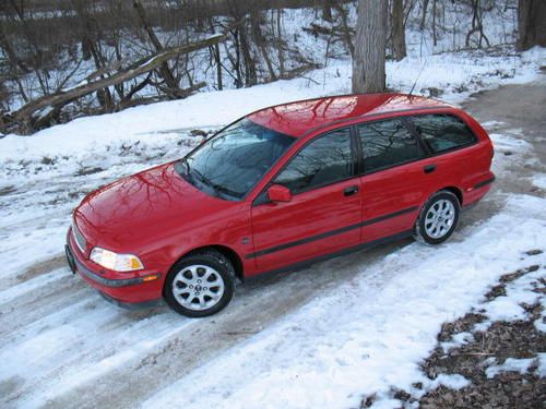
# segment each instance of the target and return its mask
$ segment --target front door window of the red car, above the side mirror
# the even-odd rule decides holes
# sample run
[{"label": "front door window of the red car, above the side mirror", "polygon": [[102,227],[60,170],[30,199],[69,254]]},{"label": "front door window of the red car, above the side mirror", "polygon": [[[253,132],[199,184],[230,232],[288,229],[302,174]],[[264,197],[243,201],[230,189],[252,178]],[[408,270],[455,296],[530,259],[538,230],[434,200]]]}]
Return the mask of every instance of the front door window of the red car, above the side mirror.
[{"label": "front door window of the red car, above the side mirror", "polygon": [[274,183],[293,193],[323,187],[354,175],[348,128],[328,133],[309,143],[275,178]]}]

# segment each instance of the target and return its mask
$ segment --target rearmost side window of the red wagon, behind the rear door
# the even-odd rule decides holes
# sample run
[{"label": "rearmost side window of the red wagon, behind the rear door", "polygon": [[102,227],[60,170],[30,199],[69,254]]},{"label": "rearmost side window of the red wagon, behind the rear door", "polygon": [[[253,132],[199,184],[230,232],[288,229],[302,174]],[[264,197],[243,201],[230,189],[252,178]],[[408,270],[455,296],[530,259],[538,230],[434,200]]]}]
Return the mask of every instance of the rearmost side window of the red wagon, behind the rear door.
[{"label": "rearmost side window of the red wagon, behind the rear door", "polygon": [[450,115],[424,115],[412,118],[416,131],[435,154],[470,145],[476,136],[459,118]]}]

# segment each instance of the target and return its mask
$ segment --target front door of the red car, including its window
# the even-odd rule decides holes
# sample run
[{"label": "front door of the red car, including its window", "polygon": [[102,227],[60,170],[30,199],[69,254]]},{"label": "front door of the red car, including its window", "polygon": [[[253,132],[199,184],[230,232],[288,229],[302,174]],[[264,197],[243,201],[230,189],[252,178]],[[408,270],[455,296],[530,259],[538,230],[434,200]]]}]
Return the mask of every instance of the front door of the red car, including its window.
[{"label": "front door of the red car, including its window", "polygon": [[351,128],[313,139],[272,183],[288,202],[252,207],[254,258],[262,270],[334,253],[360,242],[361,195]]}]

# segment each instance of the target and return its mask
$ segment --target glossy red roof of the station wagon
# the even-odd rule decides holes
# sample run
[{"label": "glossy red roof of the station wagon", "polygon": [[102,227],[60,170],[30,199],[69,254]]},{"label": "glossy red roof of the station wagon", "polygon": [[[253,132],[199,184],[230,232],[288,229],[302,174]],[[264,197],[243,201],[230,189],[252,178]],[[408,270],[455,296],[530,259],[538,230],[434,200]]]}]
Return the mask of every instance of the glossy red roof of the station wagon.
[{"label": "glossy red roof of the station wagon", "polygon": [[453,106],[416,95],[354,94],[276,105],[252,112],[246,118],[265,128],[298,137],[317,128],[359,117],[424,108],[453,108]]}]

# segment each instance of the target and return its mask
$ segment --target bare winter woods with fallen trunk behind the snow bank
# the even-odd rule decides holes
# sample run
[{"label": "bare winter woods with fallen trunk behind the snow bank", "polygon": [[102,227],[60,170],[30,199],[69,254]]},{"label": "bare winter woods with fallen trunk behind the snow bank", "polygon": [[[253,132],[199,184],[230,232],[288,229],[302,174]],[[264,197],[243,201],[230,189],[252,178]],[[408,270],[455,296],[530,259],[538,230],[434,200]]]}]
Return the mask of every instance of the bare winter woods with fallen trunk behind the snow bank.
[{"label": "bare winter woods with fallen trunk behind the snow bank", "polygon": [[[301,51],[284,28],[297,24],[286,9],[313,13],[300,31],[327,43],[325,56]],[[519,19],[507,41],[527,49],[546,45],[545,9],[542,0],[360,0],[358,9],[348,0],[3,0],[0,132],[292,79],[332,58],[353,58],[355,91],[381,91],[384,59],[405,57],[410,24],[435,45],[458,34],[464,41],[453,50],[489,48],[498,45],[483,21],[500,13]],[[462,24],[447,13],[472,19]]]}]

